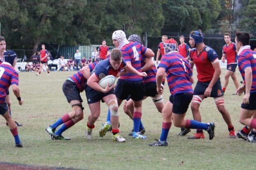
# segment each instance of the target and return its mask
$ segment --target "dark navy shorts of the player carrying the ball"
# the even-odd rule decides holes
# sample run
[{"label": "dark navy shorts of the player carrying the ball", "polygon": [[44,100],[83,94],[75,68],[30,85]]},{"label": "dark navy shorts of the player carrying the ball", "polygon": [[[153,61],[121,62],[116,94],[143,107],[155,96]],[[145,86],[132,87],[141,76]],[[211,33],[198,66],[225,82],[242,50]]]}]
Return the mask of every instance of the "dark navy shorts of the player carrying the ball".
[{"label": "dark navy shorts of the player carrying the ball", "polygon": [[100,91],[94,90],[90,86],[86,86],[85,87],[85,94],[86,94],[86,98],[87,98],[87,103],[91,104],[91,103],[95,103],[95,102],[98,102],[98,101],[102,100],[102,98],[107,96],[107,95],[115,94],[115,91],[112,88],[109,92],[102,93]]}]

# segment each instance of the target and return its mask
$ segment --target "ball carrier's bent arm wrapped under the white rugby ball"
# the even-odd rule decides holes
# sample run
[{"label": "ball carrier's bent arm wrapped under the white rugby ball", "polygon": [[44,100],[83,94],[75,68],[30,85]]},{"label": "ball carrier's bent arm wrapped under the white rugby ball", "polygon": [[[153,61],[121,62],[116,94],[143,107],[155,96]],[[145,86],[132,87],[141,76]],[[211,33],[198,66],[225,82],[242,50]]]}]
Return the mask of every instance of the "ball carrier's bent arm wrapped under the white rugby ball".
[{"label": "ball carrier's bent arm wrapped under the white rugby ball", "polygon": [[100,91],[102,93],[107,93],[109,92],[112,88],[114,88],[114,83],[112,84],[112,86],[108,86],[106,88],[102,88],[99,85],[99,81],[100,79],[95,75],[95,73],[93,73],[90,78],[87,80],[87,85],[90,86],[91,88],[93,88],[96,91]]}]

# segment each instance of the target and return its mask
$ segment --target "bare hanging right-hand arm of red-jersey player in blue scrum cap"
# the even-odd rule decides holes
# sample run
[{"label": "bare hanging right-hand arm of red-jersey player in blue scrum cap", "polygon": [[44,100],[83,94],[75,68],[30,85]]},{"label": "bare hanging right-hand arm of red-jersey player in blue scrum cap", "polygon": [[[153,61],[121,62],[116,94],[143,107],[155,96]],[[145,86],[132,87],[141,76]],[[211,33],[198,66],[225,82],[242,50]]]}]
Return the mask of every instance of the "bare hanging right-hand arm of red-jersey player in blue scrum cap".
[{"label": "bare hanging right-hand arm of red-jersey player in blue scrum cap", "polygon": [[214,86],[214,84],[217,82],[218,78],[220,77],[221,74],[221,70],[220,70],[220,63],[218,58],[216,58],[215,60],[213,60],[211,62],[211,64],[213,65],[214,68],[214,74],[213,74],[213,78],[209,84],[209,86],[206,88],[206,90],[204,91],[204,95],[206,97],[209,97],[211,95],[211,90]]}]

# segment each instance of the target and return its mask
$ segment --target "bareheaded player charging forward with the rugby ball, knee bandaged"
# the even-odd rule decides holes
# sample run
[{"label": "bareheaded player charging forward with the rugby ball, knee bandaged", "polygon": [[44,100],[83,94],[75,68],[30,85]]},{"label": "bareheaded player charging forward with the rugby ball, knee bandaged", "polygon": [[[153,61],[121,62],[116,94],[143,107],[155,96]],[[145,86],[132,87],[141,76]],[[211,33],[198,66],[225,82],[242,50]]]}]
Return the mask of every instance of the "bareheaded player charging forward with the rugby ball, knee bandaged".
[{"label": "bareheaded player charging forward with the rugby ball, knee bandaged", "polygon": [[[88,116],[88,123],[86,129],[86,135],[88,140],[92,139],[92,129],[95,128],[95,121],[100,116],[100,100],[107,103],[111,113],[111,124],[112,124],[112,139],[117,142],[125,142],[125,139],[119,135],[119,113],[116,95],[114,92],[114,84],[102,88],[98,82],[100,79],[107,75],[119,76],[121,69],[127,72],[133,72],[138,76],[146,76],[146,73],[141,73],[135,70],[130,65],[126,65],[126,62],[122,58],[122,52],[119,49],[113,49],[110,58],[101,61],[96,65],[94,73],[88,79],[88,86],[85,88],[86,97],[91,114]],[[100,131],[100,137],[103,137],[109,127],[106,127]]]}]

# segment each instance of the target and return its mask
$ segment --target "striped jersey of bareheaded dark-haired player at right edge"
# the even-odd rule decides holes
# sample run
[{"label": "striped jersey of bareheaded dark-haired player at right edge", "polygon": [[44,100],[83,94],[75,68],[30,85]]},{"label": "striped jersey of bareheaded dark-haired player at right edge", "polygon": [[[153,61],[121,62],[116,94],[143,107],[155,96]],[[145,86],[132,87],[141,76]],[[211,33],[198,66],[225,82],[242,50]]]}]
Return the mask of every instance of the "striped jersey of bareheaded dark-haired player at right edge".
[{"label": "striped jersey of bareheaded dark-haired player at right edge", "polygon": [[238,56],[238,68],[245,84],[246,82],[244,79],[244,74],[245,74],[244,70],[247,67],[251,67],[251,70],[252,70],[252,84],[251,84],[250,93],[255,93],[256,92],[256,52],[252,51],[250,48],[242,49],[242,51],[239,53],[239,56]]}]

